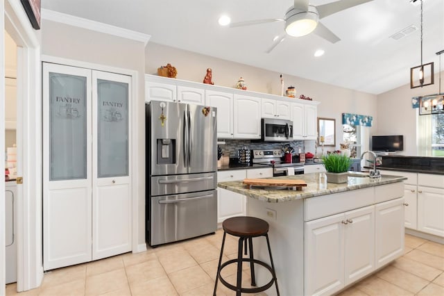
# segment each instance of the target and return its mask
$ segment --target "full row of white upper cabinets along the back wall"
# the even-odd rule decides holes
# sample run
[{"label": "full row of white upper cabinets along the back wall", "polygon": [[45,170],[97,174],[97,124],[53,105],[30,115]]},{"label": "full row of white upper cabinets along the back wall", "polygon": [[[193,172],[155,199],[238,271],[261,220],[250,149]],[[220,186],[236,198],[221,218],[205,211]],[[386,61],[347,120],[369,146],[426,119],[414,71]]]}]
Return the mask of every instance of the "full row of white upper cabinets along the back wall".
[{"label": "full row of white upper cabinets along the back wall", "polygon": [[316,139],[316,101],[146,75],[145,101],[152,100],[217,108],[219,139],[260,139],[262,117],[292,120],[295,140]]}]

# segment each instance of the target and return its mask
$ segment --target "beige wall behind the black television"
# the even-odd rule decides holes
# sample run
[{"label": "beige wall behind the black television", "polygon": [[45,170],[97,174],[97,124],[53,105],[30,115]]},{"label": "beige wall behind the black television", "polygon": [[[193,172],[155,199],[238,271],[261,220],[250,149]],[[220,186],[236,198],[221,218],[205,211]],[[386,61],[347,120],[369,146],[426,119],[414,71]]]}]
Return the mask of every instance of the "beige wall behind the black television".
[{"label": "beige wall behind the black television", "polygon": [[[441,76],[444,76],[444,72],[441,72]],[[412,108],[411,98],[438,93],[439,74],[435,75],[435,84],[411,89],[409,69],[406,69],[406,81],[407,83],[399,88],[377,95],[378,124],[375,135],[404,135],[404,151],[398,154],[416,156],[418,155],[416,145],[418,109]],[[441,92],[444,92],[444,85]]]}]

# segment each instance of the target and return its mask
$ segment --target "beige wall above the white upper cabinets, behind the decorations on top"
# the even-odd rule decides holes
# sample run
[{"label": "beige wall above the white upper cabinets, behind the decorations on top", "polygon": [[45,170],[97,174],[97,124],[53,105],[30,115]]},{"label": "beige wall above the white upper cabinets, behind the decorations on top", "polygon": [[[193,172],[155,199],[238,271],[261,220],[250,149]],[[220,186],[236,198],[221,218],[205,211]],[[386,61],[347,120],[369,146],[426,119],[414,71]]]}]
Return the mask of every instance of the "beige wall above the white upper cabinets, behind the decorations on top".
[{"label": "beige wall above the white upper cabinets, behind the decorations on top", "polygon": [[[215,85],[234,87],[239,77],[242,76],[248,90],[280,94],[280,73],[153,42],[148,43],[146,47],[146,73],[157,74],[157,68],[167,65],[167,63],[176,67],[178,79],[202,82],[206,69],[210,67],[213,71]],[[284,85],[285,88],[289,85],[295,86],[296,97],[304,94],[305,97],[311,97],[314,101],[320,101],[318,117],[334,118],[336,120],[336,149],[339,149],[339,143],[342,142],[342,113],[376,116],[377,106],[374,94],[339,88],[287,74],[284,74]],[[376,125],[377,121],[374,122],[372,130],[375,130]]]}]

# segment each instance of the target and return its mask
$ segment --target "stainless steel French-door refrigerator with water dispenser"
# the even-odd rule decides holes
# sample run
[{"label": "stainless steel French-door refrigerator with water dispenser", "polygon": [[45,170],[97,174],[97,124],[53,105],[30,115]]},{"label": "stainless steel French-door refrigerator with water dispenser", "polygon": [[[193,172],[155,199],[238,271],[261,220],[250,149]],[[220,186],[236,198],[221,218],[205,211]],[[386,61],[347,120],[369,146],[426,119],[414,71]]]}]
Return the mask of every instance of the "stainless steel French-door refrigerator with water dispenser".
[{"label": "stainless steel French-door refrigerator with water dispenser", "polygon": [[216,108],[146,104],[146,240],[151,246],[217,229]]}]

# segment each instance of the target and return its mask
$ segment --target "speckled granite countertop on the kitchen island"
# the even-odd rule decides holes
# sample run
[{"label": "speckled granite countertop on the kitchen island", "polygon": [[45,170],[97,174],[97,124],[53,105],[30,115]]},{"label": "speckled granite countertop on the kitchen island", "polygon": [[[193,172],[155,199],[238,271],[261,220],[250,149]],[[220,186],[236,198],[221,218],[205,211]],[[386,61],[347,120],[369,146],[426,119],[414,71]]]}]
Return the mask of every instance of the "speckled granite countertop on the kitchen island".
[{"label": "speckled granite countertop on the kitchen island", "polygon": [[[407,180],[407,178],[402,176],[390,176],[386,174],[383,174],[380,179],[370,179],[368,176],[364,176],[364,173],[350,172],[350,174],[355,176],[348,176],[348,183],[327,183],[327,186],[325,186],[325,183],[319,182],[320,174],[323,173],[298,174],[295,176],[279,176],[275,178],[266,178],[304,180],[307,183],[307,187],[302,187],[302,191],[298,191],[293,188],[261,186],[252,186],[251,189],[247,189],[247,186],[245,186],[242,181],[221,182],[218,183],[218,186],[226,190],[240,193],[241,195],[246,195],[247,197],[259,199],[262,202],[291,202],[292,200],[296,199],[330,195],[332,193],[357,190],[361,188],[380,186],[384,184]],[[364,177],[357,175],[363,175]]]}]

